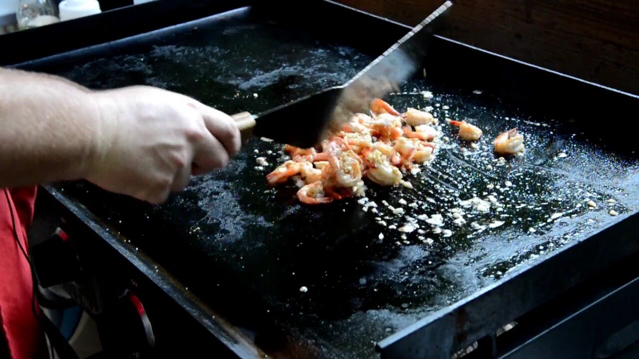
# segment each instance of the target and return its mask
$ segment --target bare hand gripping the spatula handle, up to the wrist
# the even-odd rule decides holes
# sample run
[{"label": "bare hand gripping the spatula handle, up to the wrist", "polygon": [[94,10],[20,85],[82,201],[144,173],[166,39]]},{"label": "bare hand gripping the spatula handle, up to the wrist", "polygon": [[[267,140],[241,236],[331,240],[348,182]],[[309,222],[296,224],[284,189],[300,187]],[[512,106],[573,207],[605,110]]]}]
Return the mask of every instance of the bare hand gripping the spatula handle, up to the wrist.
[{"label": "bare hand gripping the spatula handle, up to the wrist", "polygon": [[105,190],[160,204],[240,149],[235,121],[188,96],[147,86],[91,96],[101,119],[84,177]]}]

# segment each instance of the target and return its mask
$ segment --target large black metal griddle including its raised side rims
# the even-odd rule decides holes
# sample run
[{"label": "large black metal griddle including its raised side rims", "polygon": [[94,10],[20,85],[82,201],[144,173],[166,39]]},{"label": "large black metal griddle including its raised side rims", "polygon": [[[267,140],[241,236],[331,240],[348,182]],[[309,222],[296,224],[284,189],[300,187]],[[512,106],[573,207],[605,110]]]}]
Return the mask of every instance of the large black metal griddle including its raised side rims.
[{"label": "large black metal griddle including its raised side rims", "polygon": [[[259,112],[343,84],[408,29],[328,1],[304,6],[312,17],[256,3],[19,67],[91,88],[146,84],[228,113]],[[433,54],[426,77],[387,100],[466,119],[484,137],[475,149],[444,125],[449,141],[435,160],[406,176],[413,189],[369,186],[380,214],[357,199],[309,208],[293,185],[268,187],[266,174],[284,157],[260,139],[162,206],[82,181],[45,189],[151,258],[185,295],[247,328],[271,356],[449,357],[639,250],[636,145],[617,122],[638,100],[441,36]],[[491,140],[515,126],[527,151],[500,164]],[[256,157],[270,167],[256,169]],[[488,214],[459,204],[488,195],[496,202]],[[452,208],[465,211],[465,225],[453,224]],[[424,233],[403,238],[389,228],[435,214],[450,235],[419,219]]]}]

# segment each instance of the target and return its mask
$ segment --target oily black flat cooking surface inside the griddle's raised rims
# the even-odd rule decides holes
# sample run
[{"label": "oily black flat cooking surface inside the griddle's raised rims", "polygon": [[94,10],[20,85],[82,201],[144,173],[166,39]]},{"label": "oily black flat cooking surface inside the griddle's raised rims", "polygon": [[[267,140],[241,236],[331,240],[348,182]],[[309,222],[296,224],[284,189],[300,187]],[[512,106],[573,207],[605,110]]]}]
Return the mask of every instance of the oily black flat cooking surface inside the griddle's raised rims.
[{"label": "oily black flat cooking surface inside the griddle's raised rims", "polygon": [[[146,84],[229,113],[259,112],[346,82],[405,32],[390,28],[378,43],[357,47],[243,9],[26,67],[90,88]],[[449,141],[439,144],[431,165],[406,176],[413,189],[369,186],[378,213],[364,211],[357,199],[300,206],[293,185],[269,188],[265,176],[283,154],[260,139],[162,206],[83,182],[55,188],[273,352],[369,357],[379,340],[619,222],[639,205],[632,146],[602,142],[587,123],[504,102],[488,84],[446,82],[454,70],[429,67],[426,79],[420,74],[387,98],[399,110],[432,107]],[[424,91],[435,96],[427,99]],[[462,144],[444,118],[480,126],[479,148]],[[513,127],[525,135],[526,153],[498,162],[492,140]],[[256,170],[256,157],[270,165]],[[464,202],[473,197],[490,210]],[[405,213],[396,215],[383,202]],[[453,208],[465,223],[454,223]],[[443,224],[425,220],[433,215],[442,215]],[[406,223],[419,229],[391,229]]]}]

